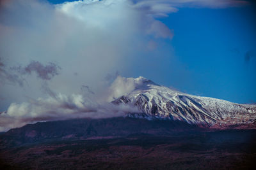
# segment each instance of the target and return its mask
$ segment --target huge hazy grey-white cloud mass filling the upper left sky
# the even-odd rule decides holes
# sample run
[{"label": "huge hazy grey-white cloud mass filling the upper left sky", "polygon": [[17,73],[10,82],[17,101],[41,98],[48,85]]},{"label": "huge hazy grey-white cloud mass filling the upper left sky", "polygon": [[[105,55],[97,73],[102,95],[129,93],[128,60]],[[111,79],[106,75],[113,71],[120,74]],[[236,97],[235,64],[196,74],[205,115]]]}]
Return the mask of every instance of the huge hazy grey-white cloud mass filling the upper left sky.
[{"label": "huge hazy grey-white cloud mass filling the upper left sky", "polygon": [[51,79],[48,86],[61,94],[77,94],[82,85],[99,94],[109,85],[108,73],[128,73],[148,50],[148,42],[173,36],[166,25],[132,1],[53,6],[45,1],[10,0],[1,1],[0,8],[0,55],[8,60],[6,67],[22,66],[19,73],[28,75],[23,89],[7,85],[0,89],[9,103],[21,103],[24,96],[47,97],[38,78]]}]

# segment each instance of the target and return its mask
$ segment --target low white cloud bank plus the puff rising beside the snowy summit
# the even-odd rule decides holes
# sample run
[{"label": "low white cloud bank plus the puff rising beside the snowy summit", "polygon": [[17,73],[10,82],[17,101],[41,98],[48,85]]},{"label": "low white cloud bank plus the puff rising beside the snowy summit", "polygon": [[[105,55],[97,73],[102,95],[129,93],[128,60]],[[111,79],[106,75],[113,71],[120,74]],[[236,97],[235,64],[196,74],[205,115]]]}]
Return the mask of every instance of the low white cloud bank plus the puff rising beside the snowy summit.
[{"label": "low white cloud bank plus the puff rising beside the snowy summit", "polygon": [[[49,94],[49,97],[29,99],[29,101],[20,104],[12,103],[7,111],[0,114],[0,131],[49,120],[122,117],[126,113],[138,113],[138,108],[134,106],[115,105],[111,101],[147,85],[148,81],[150,80],[143,77],[124,78],[117,76],[116,80],[102,94],[108,99],[104,102],[88,99],[88,93],[71,94],[70,96],[55,93],[45,84],[45,92]],[[83,86],[82,90],[90,89],[88,86]]]}]

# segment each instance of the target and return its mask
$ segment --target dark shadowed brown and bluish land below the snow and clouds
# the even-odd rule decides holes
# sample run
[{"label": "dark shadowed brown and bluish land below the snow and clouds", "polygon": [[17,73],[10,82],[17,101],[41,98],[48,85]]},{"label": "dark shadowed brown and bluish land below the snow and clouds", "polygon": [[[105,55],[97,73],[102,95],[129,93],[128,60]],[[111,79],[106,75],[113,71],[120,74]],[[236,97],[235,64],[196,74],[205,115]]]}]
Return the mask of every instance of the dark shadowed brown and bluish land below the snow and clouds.
[{"label": "dark shadowed brown and bluish land below the snow and clouds", "polygon": [[254,169],[255,137],[253,129],[208,131],[132,118],[45,122],[1,134],[0,164],[1,169]]}]

